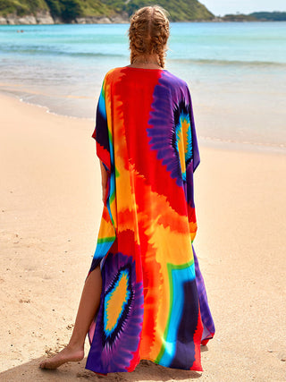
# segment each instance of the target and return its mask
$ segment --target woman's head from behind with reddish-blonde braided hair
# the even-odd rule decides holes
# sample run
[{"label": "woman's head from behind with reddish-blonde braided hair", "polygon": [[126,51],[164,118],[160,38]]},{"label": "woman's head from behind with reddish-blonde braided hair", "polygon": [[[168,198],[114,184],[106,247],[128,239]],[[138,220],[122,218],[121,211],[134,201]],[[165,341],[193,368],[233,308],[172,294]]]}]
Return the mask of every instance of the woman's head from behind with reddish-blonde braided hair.
[{"label": "woman's head from behind with reddish-blonde braided hair", "polygon": [[129,38],[131,64],[156,56],[158,64],[164,68],[169,21],[163,8],[145,6],[134,13],[130,18]]}]

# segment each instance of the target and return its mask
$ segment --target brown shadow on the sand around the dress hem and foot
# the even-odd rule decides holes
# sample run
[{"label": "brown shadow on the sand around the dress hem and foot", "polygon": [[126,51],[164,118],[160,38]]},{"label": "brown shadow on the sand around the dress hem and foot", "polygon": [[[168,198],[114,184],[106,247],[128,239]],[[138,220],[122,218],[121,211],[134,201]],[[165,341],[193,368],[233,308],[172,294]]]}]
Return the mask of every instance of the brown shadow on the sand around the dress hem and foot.
[{"label": "brown shadow on the sand around the dress hem and foot", "polygon": [[118,381],[188,381],[201,377],[201,373],[197,371],[188,371],[181,369],[169,369],[156,365],[151,361],[141,361],[139,366],[132,373],[112,373],[107,376],[101,376],[85,369],[86,359],[80,362],[71,362],[61,366],[56,370],[42,370],[38,368],[39,362],[44,357],[37,360],[23,363],[13,369],[0,373],[1,381],[29,381],[29,382],[65,382],[65,381],[102,381],[102,382],[118,382]]}]

